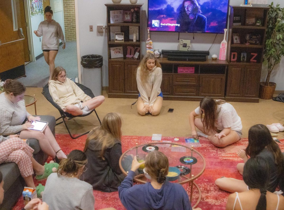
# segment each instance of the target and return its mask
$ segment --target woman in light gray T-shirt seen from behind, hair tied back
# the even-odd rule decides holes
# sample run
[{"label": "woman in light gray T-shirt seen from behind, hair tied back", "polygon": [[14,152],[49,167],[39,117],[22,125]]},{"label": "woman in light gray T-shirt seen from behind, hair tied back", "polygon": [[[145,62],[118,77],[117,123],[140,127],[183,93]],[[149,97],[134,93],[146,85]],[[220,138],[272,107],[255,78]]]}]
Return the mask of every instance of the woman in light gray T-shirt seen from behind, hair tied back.
[{"label": "woman in light gray T-shirt seen from behind, hair tied back", "polygon": [[94,209],[93,187],[80,180],[83,171],[87,170],[87,162],[84,152],[73,150],[60,162],[57,173],[47,178],[42,200],[49,205],[50,209]]}]

